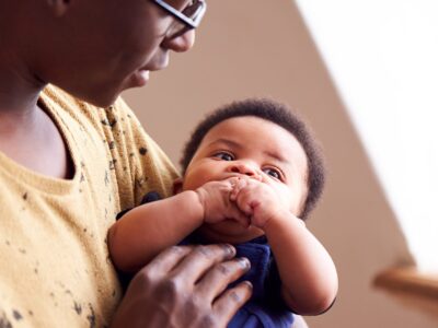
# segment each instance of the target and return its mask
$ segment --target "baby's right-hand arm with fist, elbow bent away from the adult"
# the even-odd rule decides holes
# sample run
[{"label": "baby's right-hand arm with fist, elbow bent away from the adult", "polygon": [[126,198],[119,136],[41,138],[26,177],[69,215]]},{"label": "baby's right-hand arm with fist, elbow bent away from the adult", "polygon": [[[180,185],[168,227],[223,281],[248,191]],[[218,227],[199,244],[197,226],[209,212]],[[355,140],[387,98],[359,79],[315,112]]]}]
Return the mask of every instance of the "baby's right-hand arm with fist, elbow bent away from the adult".
[{"label": "baby's right-hand arm with fist, elbow bent away from the adult", "polygon": [[286,304],[298,314],[326,311],[337,293],[336,268],[303,221],[280,203],[269,186],[254,179],[240,180],[232,199],[251,215],[251,224],[265,232]]}]

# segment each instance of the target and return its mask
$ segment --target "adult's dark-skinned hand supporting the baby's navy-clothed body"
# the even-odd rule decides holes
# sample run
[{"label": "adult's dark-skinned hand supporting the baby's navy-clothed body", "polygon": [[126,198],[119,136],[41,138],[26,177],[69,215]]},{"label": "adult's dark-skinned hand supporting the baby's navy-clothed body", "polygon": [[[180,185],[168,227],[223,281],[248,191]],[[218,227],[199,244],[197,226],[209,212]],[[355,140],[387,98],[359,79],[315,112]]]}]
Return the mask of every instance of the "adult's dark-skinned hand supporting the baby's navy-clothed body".
[{"label": "adult's dark-skinned hand supporting the baby's navy-clothed body", "polygon": [[229,245],[168,248],[132,279],[112,327],[226,327],[252,293],[249,282],[226,290],[250,268],[234,255]]}]

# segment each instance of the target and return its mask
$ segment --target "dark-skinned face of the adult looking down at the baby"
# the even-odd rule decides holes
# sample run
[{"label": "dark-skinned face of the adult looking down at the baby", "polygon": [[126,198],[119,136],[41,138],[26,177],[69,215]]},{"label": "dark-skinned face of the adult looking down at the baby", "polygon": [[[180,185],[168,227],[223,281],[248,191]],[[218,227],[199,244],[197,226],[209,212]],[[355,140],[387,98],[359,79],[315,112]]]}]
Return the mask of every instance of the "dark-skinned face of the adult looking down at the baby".
[{"label": "dark-skinned face of the adult looking down at the baby", "polygon": [[[168,1],[180,11],[189,2]],[[47,79],[96,105],[108,105],[123,90],[145,85],[150,71],[168,66],[170,50],[186,51],[194,43],[193,30],[168,38],[174,17],[150,0],[68,3],[59,17],[59,65],[48,70]]]}]

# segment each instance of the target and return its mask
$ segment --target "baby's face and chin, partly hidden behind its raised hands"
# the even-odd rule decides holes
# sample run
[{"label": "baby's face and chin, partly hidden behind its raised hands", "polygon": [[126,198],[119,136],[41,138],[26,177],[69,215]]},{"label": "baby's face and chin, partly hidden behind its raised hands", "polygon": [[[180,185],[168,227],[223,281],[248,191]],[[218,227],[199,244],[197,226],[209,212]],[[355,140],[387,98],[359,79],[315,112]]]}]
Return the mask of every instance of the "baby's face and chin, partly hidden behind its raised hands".
[{"label": "baby's face and chin, partly hidden behind its raised hands", "polygon": [[[246,175],[267,184],[279,204],[298,215],[308,192],[307,167],[304,150],[289,131],[258,117],[233,117],[205,136],[186,169],[183,190]],[[222,243],[242,243],[263,234],[233,220],[205,224],[200,232],[211,242]]]}]

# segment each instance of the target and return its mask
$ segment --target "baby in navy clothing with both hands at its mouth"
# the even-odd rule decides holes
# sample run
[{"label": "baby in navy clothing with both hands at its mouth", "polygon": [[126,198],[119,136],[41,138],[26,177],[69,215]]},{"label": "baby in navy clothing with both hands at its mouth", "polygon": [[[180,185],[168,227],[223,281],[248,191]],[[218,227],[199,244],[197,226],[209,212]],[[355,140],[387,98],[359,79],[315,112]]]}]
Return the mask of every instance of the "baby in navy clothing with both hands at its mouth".
[{"label": "baby in navy clothing with both hands at its mouth", "polygon": [[270,99],[235,102],[205,118],[186,144],[174,196],[150,192],[108,232],[117,269],[135,272],[176,244],[229,243],[251,261],[253,296],[228,327],[290,327],[291,312],[326,311],[335,266],[306,227],[324,167],[304,122]]}]

